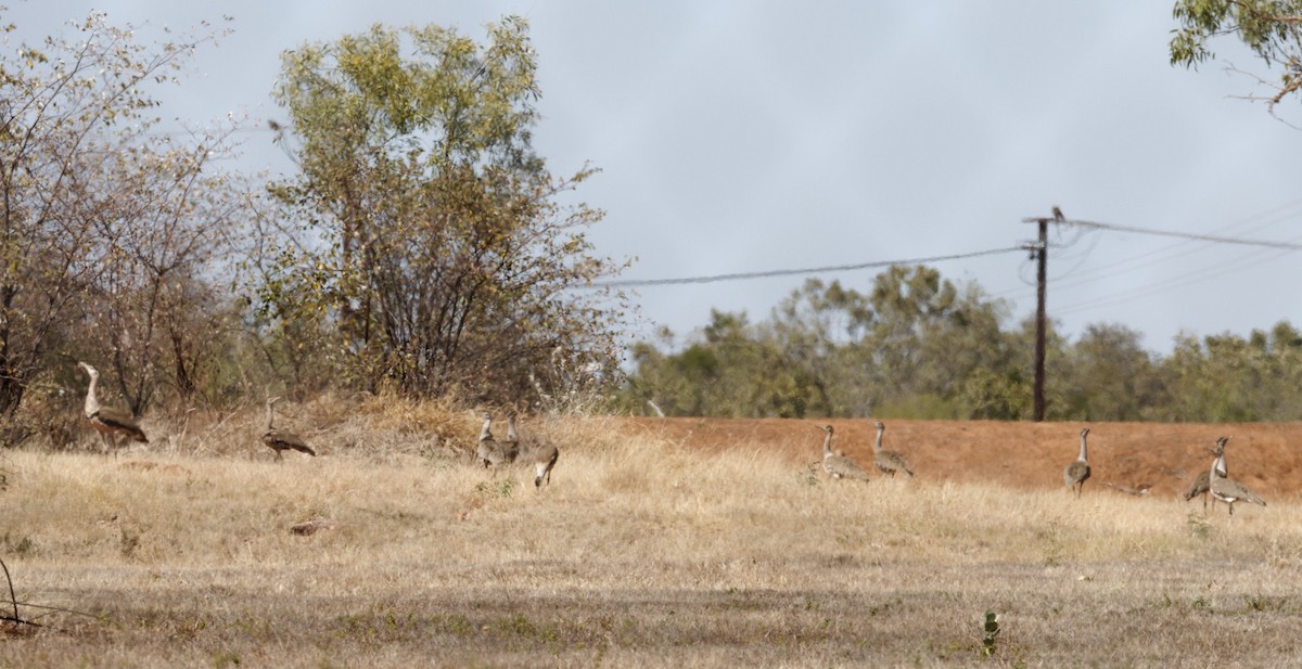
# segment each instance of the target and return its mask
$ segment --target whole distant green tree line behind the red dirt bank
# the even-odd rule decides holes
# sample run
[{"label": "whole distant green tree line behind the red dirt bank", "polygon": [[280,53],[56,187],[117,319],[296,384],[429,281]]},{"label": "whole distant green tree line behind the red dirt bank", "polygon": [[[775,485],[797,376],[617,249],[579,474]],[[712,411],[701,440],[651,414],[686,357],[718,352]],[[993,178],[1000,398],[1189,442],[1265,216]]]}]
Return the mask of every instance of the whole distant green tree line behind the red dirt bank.
[{"label": "whole distant green tree line behind the red dirt bank", "polygon": [[[677,349],[642,342],[621,410],[732,418],[1031,418],[1034,319],[975,282],[894,266],[865,293],[812,279],[764,320],[713,311]],[[1048,420],[1255,422],[1302,416],[1302,332],[1181,334],[1169,354],[1142,333],[1091,324],[1046,338]],[[655,409],[651,405],[655,405]]]}]

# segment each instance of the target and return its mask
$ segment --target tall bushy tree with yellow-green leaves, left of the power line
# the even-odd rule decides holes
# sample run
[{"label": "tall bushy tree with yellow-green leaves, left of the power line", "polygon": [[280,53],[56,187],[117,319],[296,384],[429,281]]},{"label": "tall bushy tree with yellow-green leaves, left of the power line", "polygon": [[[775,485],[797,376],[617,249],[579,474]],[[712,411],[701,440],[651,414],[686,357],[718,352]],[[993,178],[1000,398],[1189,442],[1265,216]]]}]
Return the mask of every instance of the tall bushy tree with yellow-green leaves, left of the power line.
[{"label": "tall bushy tree with yellow-green leaves, left of the power line", "polygon": [[612,374],[622,302],[574,289],[621,266],[569,193],[595,171],[555,177],[534,151],[539,95],[517,17],[484,44],[376,25],[285,52],[299,169],[272,193],[299,234],[270,255],[273,315],[324,327],[371,389],[556,398]]}]

